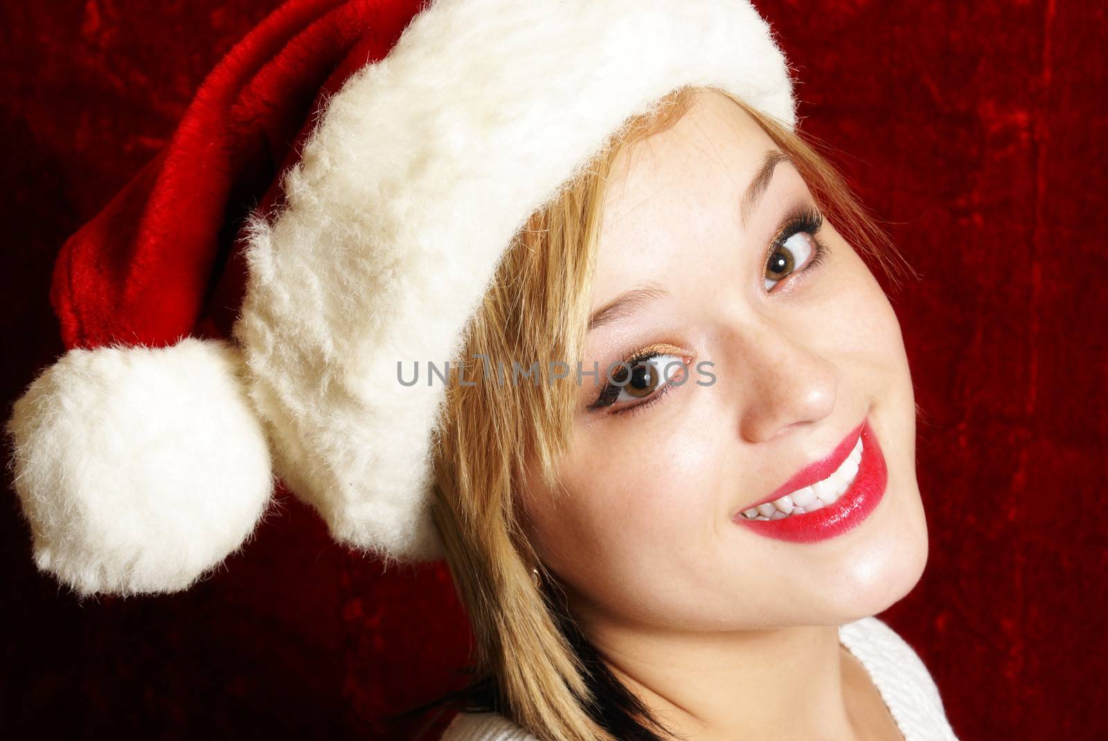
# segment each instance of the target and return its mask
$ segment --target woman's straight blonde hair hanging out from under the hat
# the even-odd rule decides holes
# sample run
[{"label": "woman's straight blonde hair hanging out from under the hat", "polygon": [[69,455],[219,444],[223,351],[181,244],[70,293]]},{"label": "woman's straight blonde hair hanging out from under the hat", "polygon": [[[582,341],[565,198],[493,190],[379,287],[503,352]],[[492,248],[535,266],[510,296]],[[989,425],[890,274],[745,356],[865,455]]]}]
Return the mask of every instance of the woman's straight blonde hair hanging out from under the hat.
[{"label": "woman's straight blonde hair hanging out from under the hat", "polygon": [[[572,619],[554,599],[556,587],[532,579],[537,568],[555,585],[523,535],[516,497],[531,461],[546,485],[556,485],[555,466],[568,449],[576,384],[551,382],[546,373],[550,361],[582,357],[612,165],[635,142],[676,123],[700,90],[674,91],[625,122],[513,238],[458,359],[476,382],[458,383],[454,370],[435,431],[432,517],[476,638],[478,670],[495,679],[503,712],[547,741],[615,737],[597,722],[595,707],[589,713],[594,693],[564,631]],[[835,169],[787,126],[718,92],[790,156],[827,217],[895,281],[906,265]],[[499,383],[497,359],[538,361],[540,382]]]}]

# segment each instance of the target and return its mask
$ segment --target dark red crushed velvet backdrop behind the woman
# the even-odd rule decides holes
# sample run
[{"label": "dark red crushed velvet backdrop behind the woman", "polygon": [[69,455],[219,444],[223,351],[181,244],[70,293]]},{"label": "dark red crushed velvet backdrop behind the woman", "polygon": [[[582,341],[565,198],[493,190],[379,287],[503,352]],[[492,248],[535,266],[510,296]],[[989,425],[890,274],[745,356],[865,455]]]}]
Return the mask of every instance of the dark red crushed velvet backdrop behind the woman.
[{"label": "dark red crushed velvet backdrop behind the woman", "polygon": [[[61,352],[48,281],[63,239],[276,4],[0,4],[6,400]],[[845,153],[923,275],[894,306],[926,413],[932,555],[883,617],[963,739],[1108,738],[1104,3],[759,6],[798,68],[804,127]],[[444,568],[383,574],[285,505],[186,594],[79,604],[35,573],[7,497],[0,732],[411,738],[379,719],[456,686],[468,650]]]}]

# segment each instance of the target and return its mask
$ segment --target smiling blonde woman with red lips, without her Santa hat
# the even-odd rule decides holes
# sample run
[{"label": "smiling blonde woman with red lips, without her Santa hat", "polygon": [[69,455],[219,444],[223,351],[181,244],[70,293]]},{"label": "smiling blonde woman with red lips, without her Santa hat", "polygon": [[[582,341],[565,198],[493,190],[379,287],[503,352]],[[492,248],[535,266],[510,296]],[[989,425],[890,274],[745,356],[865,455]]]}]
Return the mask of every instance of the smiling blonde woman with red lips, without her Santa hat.
[{"label": "smiling blonde woman with red lips, without her Santa hat", "polygon": [[[532,217],[465,357],[613,379],[450,388],[435,514],[488,668],[471,710],[538,738],[953,738],[868,617],[927,538],[912,381],[863,257],[896,266],[830,166],[717,90],[668,96]],[[494,583],[509,532],[542,601]],[[443,738],[534,737],[486,712]]]}]

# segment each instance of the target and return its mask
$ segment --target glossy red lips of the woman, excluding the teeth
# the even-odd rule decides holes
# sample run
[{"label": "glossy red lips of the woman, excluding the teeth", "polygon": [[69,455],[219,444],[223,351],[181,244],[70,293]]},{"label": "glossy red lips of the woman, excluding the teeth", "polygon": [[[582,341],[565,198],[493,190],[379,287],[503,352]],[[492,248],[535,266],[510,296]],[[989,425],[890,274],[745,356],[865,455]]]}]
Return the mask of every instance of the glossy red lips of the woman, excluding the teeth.
[{"label": "glossy red lips of the woman, excluding the teeth", "polygon": [[885,457],[869,420],[847,435],[830,455],[804,466],[772,494],[743,510],[773,502],[786,494],[827,478],[843,464],[859,436],[862,440],[862,457],[858,464],[858,473],[847,491],[833,503],[813,512],[790,514],[781,519],[748,519],[740,511],[732,517],[733,522],[749,527],[759,535],[792,543],[825,541],[860,525],[878,506],[889,480]]}]

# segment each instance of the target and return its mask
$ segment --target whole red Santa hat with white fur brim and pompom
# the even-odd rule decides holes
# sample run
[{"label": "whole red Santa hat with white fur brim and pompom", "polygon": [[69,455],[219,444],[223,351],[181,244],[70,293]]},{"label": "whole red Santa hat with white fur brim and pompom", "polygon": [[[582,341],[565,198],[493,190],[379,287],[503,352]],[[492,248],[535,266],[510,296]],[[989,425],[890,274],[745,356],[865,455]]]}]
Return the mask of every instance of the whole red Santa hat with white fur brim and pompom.
[{"label": "whole red Santa hat with white fur brim and pompom", "polygon": [[442,556],[443,384],[513,235],[629,116],[716,86],[794,125],[746,0],[293,0],[58,257],[66,352],[16,401],[39,568],[183,589],[281,481],[339,542]]}]

